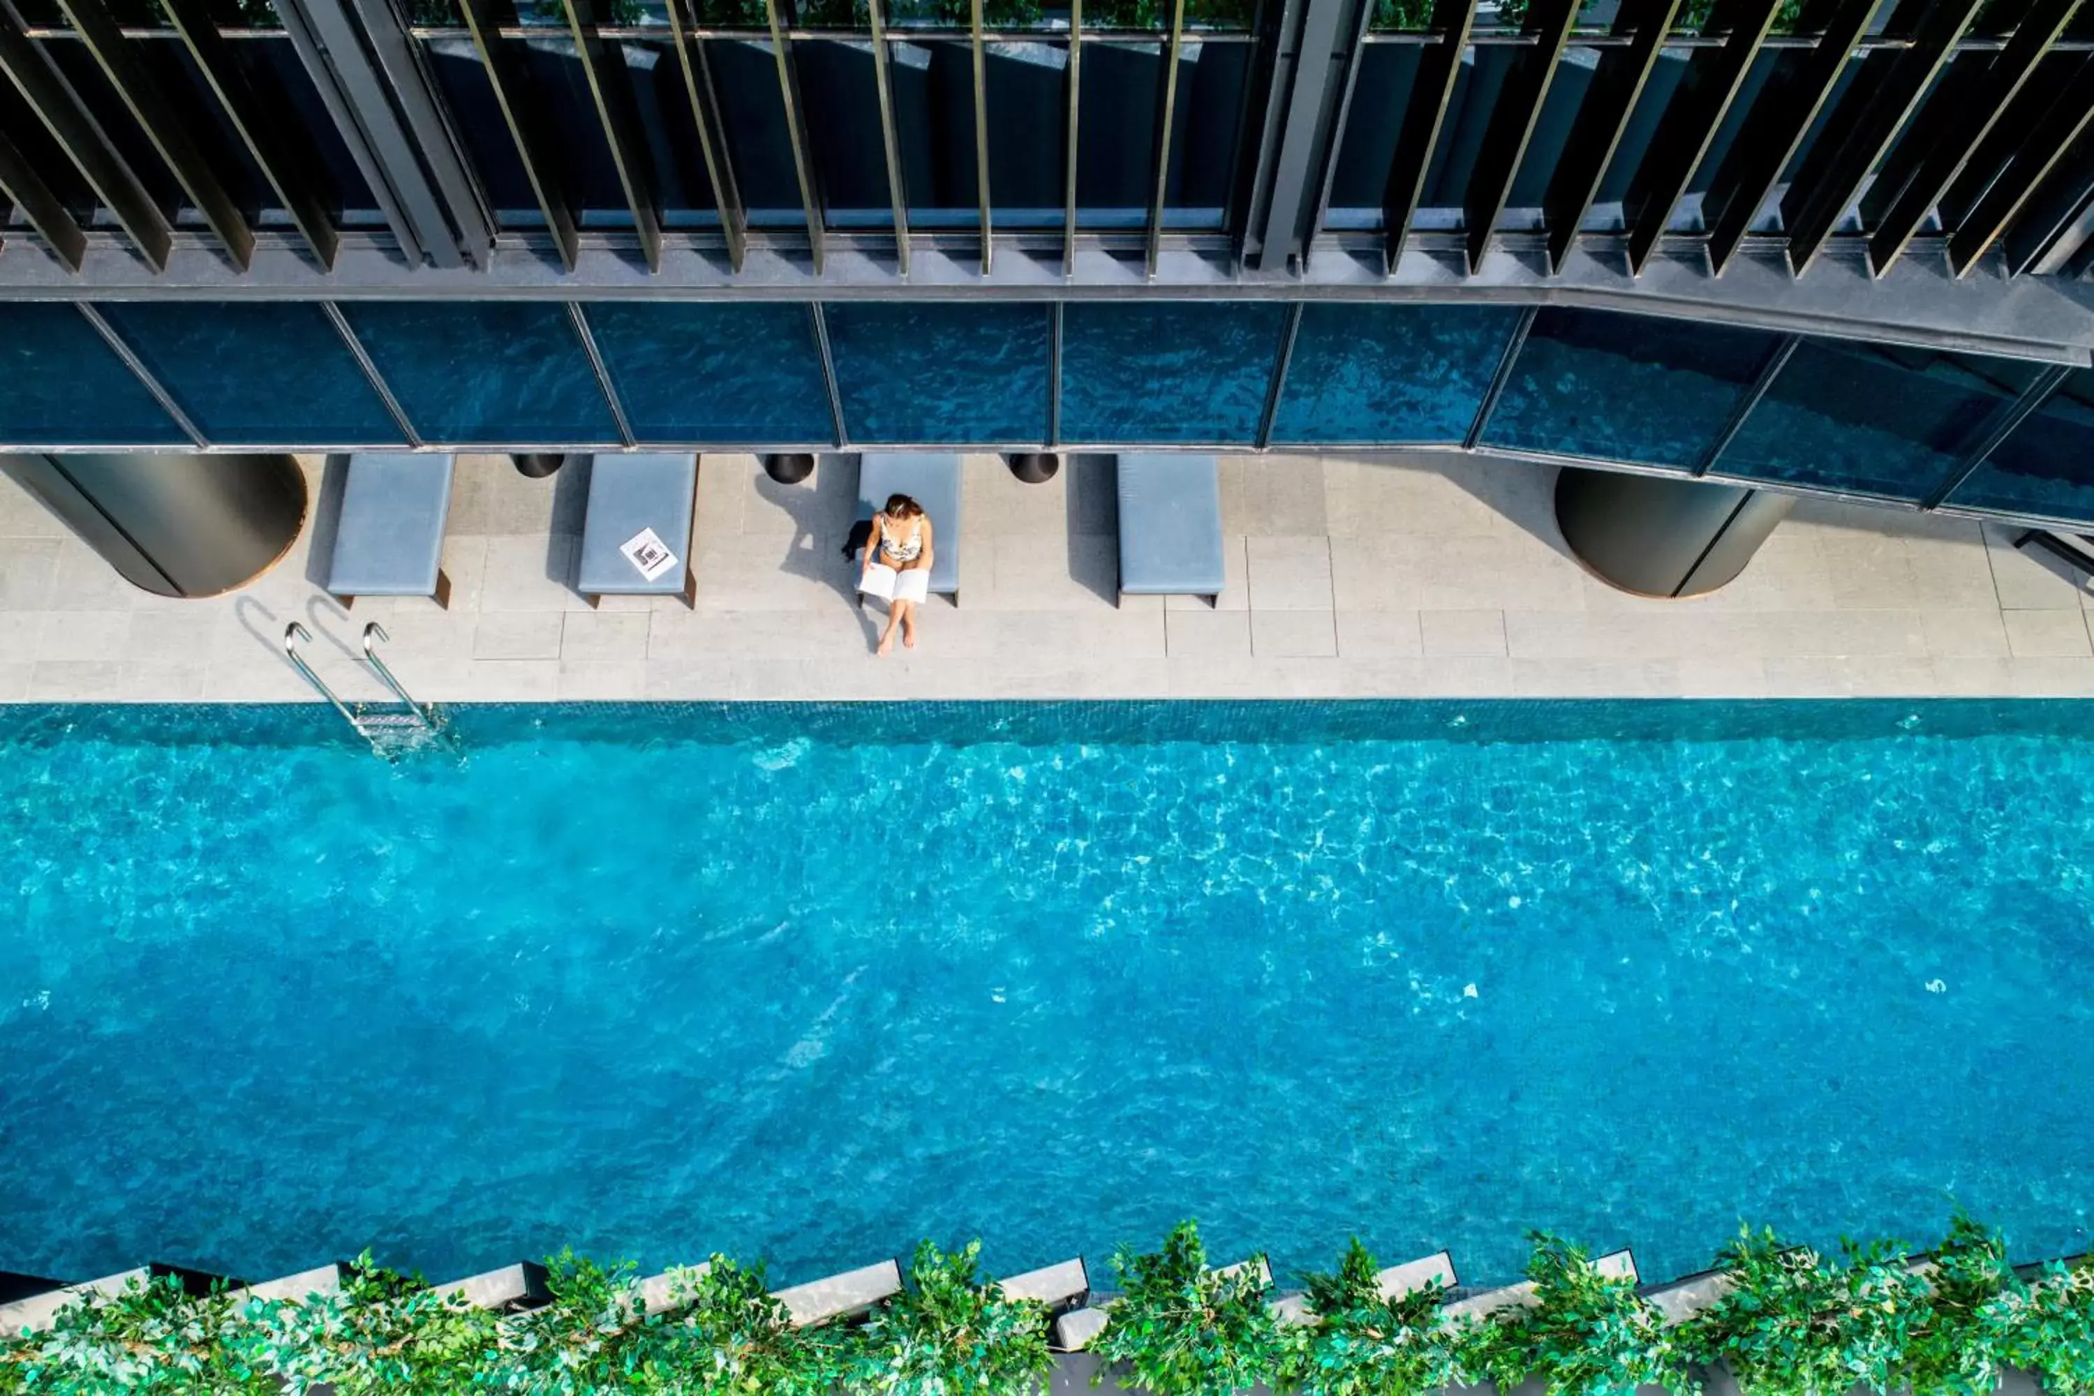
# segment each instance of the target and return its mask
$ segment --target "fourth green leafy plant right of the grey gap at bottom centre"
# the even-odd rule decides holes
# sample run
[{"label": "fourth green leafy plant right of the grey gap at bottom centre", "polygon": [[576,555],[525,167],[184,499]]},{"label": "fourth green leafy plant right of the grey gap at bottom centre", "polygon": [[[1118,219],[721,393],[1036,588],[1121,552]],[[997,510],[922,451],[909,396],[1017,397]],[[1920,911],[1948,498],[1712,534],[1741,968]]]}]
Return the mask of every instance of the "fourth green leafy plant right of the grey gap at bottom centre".
[{"label": "fourth green leafy plant right of the grey gap at bottom centre", "polygon": [[1889,1390],[1929,1310],[1926,1283],[1883,1241],[1843,1243],[1830,1262],[1744,1229],[1719,1264],[1734,1287],[1692,1321],[1686,1342],[1700,1360],[1728,1363],[1746,1396]]}]

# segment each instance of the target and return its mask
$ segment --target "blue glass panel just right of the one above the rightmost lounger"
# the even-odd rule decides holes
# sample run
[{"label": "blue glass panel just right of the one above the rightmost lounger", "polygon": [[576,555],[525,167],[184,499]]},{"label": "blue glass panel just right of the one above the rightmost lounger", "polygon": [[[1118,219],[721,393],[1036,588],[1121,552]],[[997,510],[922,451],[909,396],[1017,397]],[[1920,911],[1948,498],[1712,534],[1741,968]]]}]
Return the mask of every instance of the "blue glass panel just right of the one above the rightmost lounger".
[{"label": "blue glass panel just right of the one above the rightmost lounger", "polygon": [[1273,440],[1460,442],[1518,318],[1512,306],[1305,306]]}]

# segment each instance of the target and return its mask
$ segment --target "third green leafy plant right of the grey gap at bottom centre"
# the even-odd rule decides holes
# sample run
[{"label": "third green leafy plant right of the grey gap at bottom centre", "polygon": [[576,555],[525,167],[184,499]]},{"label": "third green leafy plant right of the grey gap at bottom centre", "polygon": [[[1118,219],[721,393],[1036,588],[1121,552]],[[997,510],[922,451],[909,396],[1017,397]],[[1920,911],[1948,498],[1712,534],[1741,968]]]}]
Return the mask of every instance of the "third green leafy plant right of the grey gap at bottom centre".
[{"label": "third green leafy plant right of the grey gap at bottom centre", "polygon": [[1600,1273],[1583,1247],[1531,1233],[1533,1304],[1501,1308],[1476,1333],[1470,1363],[1499,1390],[1541,1381],[1550,1396],[1684,1388],[1681,1358],[1635,1283]]}]

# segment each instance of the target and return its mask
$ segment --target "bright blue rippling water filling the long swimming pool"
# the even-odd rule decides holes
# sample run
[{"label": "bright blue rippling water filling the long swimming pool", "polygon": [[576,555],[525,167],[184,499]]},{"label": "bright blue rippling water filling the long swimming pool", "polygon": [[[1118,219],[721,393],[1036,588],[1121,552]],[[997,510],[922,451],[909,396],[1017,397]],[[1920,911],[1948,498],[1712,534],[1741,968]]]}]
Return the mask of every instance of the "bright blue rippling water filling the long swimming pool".
[{"label": "bright blue rippling water filling the long swimming pool", "polygon": [[2094,1224],[2079,705],[0,718],[0,1268]]}]

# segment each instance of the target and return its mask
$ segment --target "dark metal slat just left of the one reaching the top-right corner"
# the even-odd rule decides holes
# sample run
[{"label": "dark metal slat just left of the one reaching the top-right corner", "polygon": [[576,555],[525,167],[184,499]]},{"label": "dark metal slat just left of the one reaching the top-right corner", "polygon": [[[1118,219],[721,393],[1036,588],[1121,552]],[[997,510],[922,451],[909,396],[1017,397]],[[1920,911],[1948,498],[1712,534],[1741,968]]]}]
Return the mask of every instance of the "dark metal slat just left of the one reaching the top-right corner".
[{"label": "dark metal slat just left of the one reaching the top-right corner", "polygon": [[[1870,63],[1889,63],[1891,71],[1874,90],[1862,96],[1855,92],[1859,109],[1849,117],[1843,103],[1832,115],[1795,182],[1782,195],[1782,226],[1788,230],[1788,264],[1797,276],[1809,270],[1818,253],[1824,251],[1832,228],[1862,197],[1876,161],[1897,140],[1897,132],[1912,119],[1914,109],[1926,96],[1935,77],[1947,65],[1970,21],[1977,19],[1985,0],[1931,0],[1918,17],[1912,46],[1899,54],[1876,54]],[[1908,0],[1899,13],[1918,8]]]}]

